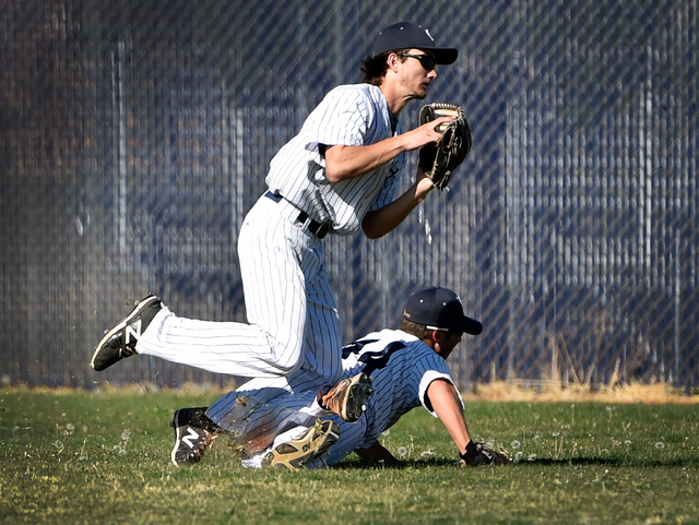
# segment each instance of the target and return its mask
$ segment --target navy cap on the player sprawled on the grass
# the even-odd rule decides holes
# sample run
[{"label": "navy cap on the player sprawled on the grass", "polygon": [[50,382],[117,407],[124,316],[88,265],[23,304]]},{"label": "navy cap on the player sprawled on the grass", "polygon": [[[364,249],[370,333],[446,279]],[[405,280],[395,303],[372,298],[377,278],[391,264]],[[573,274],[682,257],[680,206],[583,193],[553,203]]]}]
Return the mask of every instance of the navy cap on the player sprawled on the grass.
[{"label": "navy cap on the player sprawled on the grass", "polygon": [[403,311],[403,319],[434,330],[478,335],[483,325],[463,314],[459,296],[448,288],[427,286],[413,294]]}]

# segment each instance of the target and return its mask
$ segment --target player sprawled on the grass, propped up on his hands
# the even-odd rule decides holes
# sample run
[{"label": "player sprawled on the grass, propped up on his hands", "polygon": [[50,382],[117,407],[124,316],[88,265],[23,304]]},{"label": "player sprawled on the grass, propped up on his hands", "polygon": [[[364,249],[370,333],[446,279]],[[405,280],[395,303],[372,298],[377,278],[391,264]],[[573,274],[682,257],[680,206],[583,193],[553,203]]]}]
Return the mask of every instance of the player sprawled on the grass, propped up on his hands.
[{"label": "player sprawled on the grass, propped up on his hands", "polygon": [[[442,421],[464,463],[503,463],[505,456],[472,442],[461,394],[446,361],[463,333],[476,335],[481,331],[481,323],[463,314],[461,300],[452,290],[423,288],[408,299],[401,330],[371,333],[343,348],[344,377],[371,375],[376,389],[357,422],[347,423],[340,417],[331,417],[316,423],[315,417],[320,414],[307,409],[317,398],[312,390],[280,395],[265,405],[254,405],[256,392],[244,385],[212,404],[208,430],[197,429],[194,433],[213,435],[222,433],[222,429],[233,431],[237,442],[248,451],[242,463],[249,467],[330,466],[353,451],[363,458],[391,464],[398,460],[379,444],[381,432],[423,405]],[[254,405],[246,417],[240,417],[245,411],[241,399],[242,405]],[[175,464],[201,460],[211,441],[213,439],[191,455],[190,446],[176,440],[173,458],[175,462],[177,456],[181,461]],[[191,457],[196,461],[188,461]]]}]

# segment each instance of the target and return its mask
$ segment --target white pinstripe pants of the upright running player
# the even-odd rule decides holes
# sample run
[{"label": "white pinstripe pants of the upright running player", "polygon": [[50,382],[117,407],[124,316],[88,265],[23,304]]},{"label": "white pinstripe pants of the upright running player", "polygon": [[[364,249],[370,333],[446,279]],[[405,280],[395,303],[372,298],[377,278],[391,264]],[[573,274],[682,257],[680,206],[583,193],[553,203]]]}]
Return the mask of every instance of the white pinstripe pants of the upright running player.
[{"label": "white pinstripe pants of the upright running player", "polygon": [[139,354],[216,373],[333,384],[342,373],[342,334],[325,276],[323,247],[286,201],[260,198],[238,239],[248,322],[185,319],[167,308],[137,345]]}]

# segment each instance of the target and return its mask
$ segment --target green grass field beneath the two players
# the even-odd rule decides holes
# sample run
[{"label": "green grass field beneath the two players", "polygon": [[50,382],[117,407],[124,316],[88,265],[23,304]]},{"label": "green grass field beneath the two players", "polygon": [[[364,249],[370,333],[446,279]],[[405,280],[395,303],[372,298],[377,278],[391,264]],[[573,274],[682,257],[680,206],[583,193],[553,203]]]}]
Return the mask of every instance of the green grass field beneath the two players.
[{"label": "green grass field beneath the two players", "polygon": [[470,402],[476,439],[522,453],[498,468],[452,466],[422,408],[381,438],[401,468],[247,470],[224,439],[170,465],[173,410],[216,397],[0,392],[0,523],[699,523],[697,405]]}]

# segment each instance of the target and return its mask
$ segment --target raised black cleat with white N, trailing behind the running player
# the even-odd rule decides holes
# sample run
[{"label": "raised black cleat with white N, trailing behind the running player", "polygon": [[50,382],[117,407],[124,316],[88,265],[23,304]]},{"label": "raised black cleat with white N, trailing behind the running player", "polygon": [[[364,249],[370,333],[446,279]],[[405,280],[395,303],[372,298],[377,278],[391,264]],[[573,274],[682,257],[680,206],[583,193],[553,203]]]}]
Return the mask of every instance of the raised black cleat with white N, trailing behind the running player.
[{"label": "raised black cleat with white N, trailing behind the running player", "polygon": [[134,355],[135,344],[151,321],[163,308],[161,300],[150,295],[139,301],[119,324],[102,338],[92,356],[90,366],[97,371],[111,367],[115,362]]}]

